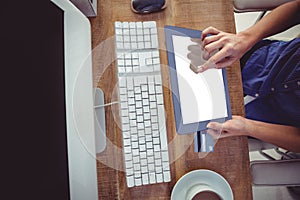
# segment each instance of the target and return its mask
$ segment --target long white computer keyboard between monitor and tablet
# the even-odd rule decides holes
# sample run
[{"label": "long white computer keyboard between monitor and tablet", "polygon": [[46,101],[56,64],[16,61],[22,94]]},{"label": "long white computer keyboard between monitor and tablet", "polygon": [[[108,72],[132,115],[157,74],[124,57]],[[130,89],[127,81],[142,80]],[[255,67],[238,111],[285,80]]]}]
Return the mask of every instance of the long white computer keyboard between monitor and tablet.
[{"label": "long white computer keyboard between monitor and tablet", "polygon": [[156,22],[115,22],[128,187],[171,181]]}]

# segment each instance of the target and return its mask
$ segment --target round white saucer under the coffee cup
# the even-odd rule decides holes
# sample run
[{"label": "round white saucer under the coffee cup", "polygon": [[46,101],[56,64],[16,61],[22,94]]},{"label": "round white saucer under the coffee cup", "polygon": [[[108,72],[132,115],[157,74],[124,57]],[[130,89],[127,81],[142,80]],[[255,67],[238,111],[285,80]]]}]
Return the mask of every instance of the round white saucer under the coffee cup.
[{"label": "round white saucer under the coffee cup", "polygon": [[224,200],[233,200],[229,183],[220,174],[211,170],[194,170],[182,176],[175,184],[171,200],[184,200],[187,191],[196,184],[205,184],[217,191]]}]

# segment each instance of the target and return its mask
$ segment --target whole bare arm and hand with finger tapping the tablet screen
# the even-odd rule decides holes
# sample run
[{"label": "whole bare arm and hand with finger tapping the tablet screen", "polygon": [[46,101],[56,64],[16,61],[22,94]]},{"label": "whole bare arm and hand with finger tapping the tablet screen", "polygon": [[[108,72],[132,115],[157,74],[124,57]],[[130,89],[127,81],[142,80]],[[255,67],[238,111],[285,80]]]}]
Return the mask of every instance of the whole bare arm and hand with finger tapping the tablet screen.
[{"label": "whole bare arm and hand with finger tapping the tablet screen", "polygon": [[196,73],[230,66],[258,41],[299,24],[299,11],[300,0],[287,2],[238,34],[226,33],[214,27],[206,28],[202,32],[201,46],[205,51],[203,54],[208,55],[209,59],[202,66],[196,66]]}]

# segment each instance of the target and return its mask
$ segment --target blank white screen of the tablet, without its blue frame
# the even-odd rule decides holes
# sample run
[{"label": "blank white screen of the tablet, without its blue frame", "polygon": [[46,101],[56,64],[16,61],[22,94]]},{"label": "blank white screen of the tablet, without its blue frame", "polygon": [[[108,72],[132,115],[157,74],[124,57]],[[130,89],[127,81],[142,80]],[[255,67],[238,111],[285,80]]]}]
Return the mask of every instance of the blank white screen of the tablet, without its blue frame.
[{"label": "blank white screen of the tablet, without its blue frame", "polygon": [[196,43],[176,35],[172,40],[183,124],[228,117],[222,70],[194,73],[187,55]]}]

